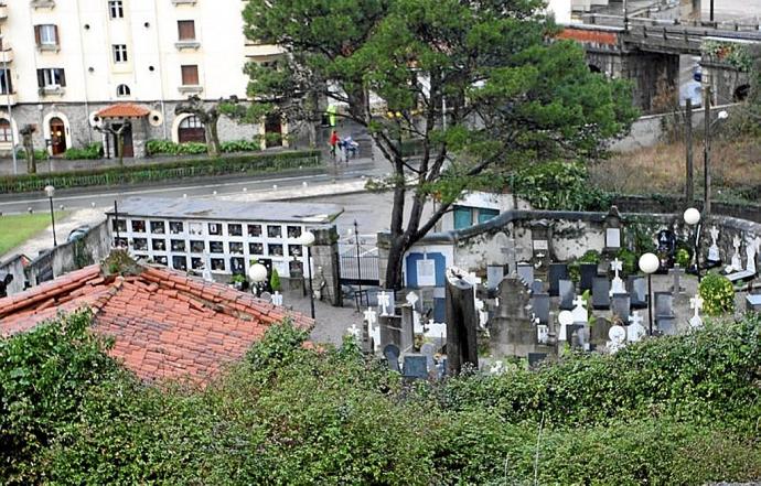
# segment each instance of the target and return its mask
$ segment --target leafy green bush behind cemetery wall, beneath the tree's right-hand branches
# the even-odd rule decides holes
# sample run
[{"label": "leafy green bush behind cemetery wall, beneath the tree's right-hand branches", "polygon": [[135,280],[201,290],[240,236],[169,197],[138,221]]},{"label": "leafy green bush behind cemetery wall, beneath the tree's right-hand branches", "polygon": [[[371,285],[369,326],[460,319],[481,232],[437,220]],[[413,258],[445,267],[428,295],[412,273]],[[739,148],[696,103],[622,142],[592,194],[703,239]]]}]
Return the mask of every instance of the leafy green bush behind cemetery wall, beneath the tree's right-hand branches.
[{"label": "leafy green bush behind cemetery wall, beneath the tree's right-hand branches", "polygon": [[608,210],[611,196],[589,183],[580,162],[534,163],[516,172],[513,191],[536,209]]}]

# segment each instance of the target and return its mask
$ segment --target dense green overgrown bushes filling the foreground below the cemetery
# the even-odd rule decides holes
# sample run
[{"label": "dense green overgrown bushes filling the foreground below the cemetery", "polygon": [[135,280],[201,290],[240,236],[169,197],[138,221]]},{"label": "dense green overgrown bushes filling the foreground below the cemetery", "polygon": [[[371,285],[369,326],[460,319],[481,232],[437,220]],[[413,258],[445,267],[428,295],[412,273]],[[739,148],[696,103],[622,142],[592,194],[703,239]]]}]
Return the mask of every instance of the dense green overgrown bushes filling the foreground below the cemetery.
[{"label": "dense green overgrown bushes filling the foreground below the cemetery", "polygon": [[[65,420],[22,410],[32,430],[55,434],[15,482],[640,485],[761,476],[759,316],[613,356],[569,355],[537,371],[433,385],[403,381],[352,342],[313,350],[307,338],[290,323],[272,326],[199,390],[147,387],[125,374],[93,379],[83,367]],[[107,368],[100,356],[97,369],[100,359]],[[23,366],[62,375],[50,361]],[[1,403],[15,402],[15,390],[3,389]]]}]

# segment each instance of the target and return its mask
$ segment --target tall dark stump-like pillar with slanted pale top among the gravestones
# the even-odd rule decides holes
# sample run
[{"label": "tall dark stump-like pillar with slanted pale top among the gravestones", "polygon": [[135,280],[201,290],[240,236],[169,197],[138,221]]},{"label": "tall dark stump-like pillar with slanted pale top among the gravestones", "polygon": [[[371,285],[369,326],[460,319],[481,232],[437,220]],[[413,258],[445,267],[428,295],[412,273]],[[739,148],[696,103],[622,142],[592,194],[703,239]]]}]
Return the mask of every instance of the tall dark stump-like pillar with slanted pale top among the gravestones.
[{"label": "tall dark stump-like pillar with slanted pale top among the gravestones", "polygon": [[457,267],[448,268],[446,273],[448,371],[459,375],[467,364],[479,367],[475,285],[470,276]]}]

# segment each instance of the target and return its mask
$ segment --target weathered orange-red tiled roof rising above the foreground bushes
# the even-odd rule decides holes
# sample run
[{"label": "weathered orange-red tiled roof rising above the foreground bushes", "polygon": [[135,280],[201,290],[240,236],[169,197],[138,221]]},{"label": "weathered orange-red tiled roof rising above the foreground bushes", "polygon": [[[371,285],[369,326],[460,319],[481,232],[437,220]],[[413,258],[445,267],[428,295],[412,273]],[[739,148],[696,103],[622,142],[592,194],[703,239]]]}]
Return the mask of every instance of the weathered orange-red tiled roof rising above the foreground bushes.
[{"label": "weathered orange-red tiled roof rising above the foreground bushes", "polygon": [[162,267],[135,276],[103,276],[97,264],[0,299],[0,336],[29,331],[60,312],[89,307],[94,330],[115,338],[111,356],[141,379],[203,384],[237,360],[267,327],[290,316],[280,306]]}]

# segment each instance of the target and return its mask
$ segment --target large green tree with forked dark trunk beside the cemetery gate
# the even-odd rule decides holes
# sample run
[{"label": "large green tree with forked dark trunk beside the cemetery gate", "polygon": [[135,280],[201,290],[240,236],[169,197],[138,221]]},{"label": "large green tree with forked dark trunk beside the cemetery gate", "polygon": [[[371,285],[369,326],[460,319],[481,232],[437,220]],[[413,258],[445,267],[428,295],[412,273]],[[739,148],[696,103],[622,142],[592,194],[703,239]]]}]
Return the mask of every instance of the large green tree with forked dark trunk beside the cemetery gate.
[{"label": "large green tree with forked dark trunk beside the cemetery gate", "polygon": [[[463,190],[500,187],[521,164],[597,156],[633,120],[629,86],[591,73],[579,45],[556,41],[543,8],[539,0],[248,1],[246,35],[286,51],[246,67],[254,112],[309,120],[321,115],[319,100],[342,106],[392,165],[388,287],[400,283],[404,251]],[[405,156],[408,139],[421,147],[415,162]],[[431,195],[441,204],[424,220]]]}]

